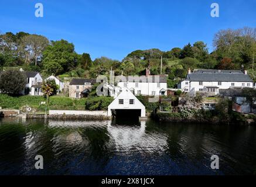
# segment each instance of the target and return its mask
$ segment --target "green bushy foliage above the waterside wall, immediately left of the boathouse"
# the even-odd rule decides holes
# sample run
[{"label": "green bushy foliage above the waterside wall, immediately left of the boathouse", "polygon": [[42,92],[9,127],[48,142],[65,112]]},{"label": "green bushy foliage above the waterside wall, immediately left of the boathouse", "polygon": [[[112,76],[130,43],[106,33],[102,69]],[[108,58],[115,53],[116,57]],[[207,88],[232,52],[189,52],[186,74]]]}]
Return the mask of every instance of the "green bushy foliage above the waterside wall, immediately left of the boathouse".
[{"label": "green bushy foliage above the waterside wall, immediately left of the boathouse", "polygon": [[107,110],[108,105],[113,101],[112,97],[97,96],[86,100],[86,110]]}]

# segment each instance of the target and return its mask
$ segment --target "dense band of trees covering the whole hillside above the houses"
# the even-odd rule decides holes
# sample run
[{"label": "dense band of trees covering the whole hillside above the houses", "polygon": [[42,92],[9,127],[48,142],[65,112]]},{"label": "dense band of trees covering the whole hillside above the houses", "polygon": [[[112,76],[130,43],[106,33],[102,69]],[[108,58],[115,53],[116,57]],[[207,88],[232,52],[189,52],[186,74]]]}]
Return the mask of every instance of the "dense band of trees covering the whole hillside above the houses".
[{"label": "dense band of trees covering the whole hillside above the houses", "polygon": [[168,85],[172,86],[186,77],[188,68],[239,70],[244,65],[256,81],[255,28],[220,30],[214,35],[213,47],[209,53],[207,44],[199,40],[167,51],[138,49],[121,61],[108,57],[92,60],[89,53],[77,54],[74,45],[66,40],[49,42],[36,34],[7,32],[0,34],[0,69],[14,66],[44,75],[96,78],[108,76],[111,68],[115,75],[122,72],[124,75],[145,75],[146,68],[151,65],[151,74],[160,74],[162,58],[162,74],[168,75]]}]

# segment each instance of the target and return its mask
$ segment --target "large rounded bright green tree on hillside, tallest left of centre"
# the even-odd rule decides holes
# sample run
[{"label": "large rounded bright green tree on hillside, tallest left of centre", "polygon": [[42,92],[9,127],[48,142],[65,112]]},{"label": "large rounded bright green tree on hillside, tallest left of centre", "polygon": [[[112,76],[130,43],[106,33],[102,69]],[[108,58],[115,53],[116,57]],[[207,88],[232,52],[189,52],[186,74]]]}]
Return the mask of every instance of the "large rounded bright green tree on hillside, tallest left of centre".
[{"label": "large rounded bright green tree on hillside, tallest left of centre", "polygon": [[52,41],[52,45],[43,51],[43,68],[49,74],[60,75],[74,69],[76,65],[77,54],[74,51],[74,44],[66,40]]}]

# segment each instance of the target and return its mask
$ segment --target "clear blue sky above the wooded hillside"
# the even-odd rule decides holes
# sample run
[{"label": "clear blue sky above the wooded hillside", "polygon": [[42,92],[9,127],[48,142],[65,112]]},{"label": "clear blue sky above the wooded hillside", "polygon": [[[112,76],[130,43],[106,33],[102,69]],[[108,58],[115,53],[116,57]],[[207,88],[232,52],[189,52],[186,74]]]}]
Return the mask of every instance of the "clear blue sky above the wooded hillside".
[{"label": "clear blue sky above the wooded hillside", "polygon": [[[44,17],[35,17],[35,4]],[[211,3],[220,17],[211,18]],[[0,32],[42,34],[74,43],[77,53],[122,60],[138,49],[163,51],[205,41],[220,29],[256,26],[255,0],[9,0],[0,1]]]}]

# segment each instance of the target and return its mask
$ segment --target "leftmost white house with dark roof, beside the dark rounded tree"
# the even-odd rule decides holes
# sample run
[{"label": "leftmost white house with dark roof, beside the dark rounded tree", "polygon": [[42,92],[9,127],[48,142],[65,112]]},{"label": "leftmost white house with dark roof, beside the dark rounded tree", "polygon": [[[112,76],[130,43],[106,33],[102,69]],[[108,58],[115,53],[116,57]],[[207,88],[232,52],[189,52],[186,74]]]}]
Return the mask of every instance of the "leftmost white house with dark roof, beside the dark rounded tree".
[{"label": "leftmost white house with dark roof, beside the dark rounded tree", "polygon": [[26,86],[22,94],[24,95],[43,95],[43,78],[37,71],[24,71],[26,75]]}]

